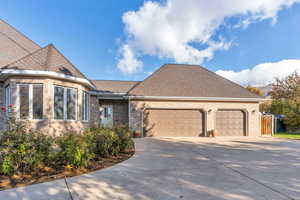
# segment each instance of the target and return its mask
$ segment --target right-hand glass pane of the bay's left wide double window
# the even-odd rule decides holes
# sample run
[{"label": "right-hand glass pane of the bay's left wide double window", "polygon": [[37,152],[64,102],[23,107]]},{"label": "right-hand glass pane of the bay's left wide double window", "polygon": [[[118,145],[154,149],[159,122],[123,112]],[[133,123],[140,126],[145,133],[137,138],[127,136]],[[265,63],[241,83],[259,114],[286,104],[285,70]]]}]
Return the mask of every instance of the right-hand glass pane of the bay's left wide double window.
[{"label": "right-hand glass pane of the bay's left wide double window", "polygon": [[43,85],[32,85],[33,119],[43,118]]}]

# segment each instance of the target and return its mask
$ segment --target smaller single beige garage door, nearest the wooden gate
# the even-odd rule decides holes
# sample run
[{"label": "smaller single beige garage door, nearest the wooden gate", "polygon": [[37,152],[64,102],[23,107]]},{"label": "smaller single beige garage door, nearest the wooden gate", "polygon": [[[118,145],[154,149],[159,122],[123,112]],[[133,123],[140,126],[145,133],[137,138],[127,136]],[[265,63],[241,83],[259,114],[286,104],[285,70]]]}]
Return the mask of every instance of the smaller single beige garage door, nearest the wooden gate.
[{"label": "smaller single beige garage door, nearest the wooden gate", "polygon": [[216,116],[217,135],[220,136],[244,136],[245,114],[240,110],[217,111]]}]

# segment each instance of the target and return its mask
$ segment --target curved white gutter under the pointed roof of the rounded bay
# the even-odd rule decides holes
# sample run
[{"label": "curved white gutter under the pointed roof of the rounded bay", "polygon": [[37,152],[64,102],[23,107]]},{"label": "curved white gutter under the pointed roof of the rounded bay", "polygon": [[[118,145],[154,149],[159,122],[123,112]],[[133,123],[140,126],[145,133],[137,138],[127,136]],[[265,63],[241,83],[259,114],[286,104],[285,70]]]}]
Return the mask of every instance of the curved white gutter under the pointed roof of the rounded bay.
[{"label": "curved white gutter under the pointed roof of the rounded bay", "polygon": [[29,76],[47,76],[59,79],[66,79],[69,81],[81,83],[87,85],[93,89],[96,89],[95,86],[87,79],[78,78],[70,75],[65,75],[62,73],[52,72],[52,71],[38,71],[38,70],[20,70],[20,69],[2,69],[0,71],[1,75],[29,75]]}]

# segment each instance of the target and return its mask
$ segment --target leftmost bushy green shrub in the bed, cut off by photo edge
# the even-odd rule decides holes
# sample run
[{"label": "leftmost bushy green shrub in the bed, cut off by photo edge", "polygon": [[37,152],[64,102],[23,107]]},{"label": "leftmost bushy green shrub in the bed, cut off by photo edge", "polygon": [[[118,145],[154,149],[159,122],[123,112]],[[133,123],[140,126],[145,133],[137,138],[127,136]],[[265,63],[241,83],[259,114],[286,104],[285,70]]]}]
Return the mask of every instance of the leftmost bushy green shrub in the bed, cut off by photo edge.
[{"label": "leftmost bushy green shrub in the bed, cut off by photo edge", "polygon": [[38,132],[11,129],[1,133],[0,164],[2,174],[36,172],[49,162],[53,139]]}]

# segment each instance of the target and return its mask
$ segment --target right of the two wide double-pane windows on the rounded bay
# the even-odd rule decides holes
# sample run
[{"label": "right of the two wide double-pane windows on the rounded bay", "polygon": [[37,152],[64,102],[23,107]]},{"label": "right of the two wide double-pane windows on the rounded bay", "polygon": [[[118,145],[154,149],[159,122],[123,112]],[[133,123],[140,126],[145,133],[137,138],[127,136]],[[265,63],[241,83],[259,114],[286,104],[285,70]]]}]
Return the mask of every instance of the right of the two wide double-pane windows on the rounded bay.
[{"label": "right of the two wide double-pane windows on the rounded bay", "polygon": [[54,86],[54,119],[76,120],[77,90]]}]

